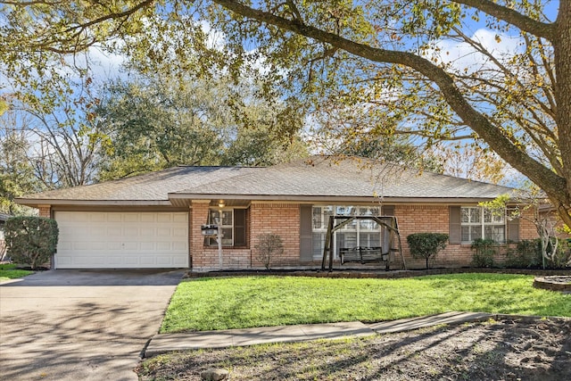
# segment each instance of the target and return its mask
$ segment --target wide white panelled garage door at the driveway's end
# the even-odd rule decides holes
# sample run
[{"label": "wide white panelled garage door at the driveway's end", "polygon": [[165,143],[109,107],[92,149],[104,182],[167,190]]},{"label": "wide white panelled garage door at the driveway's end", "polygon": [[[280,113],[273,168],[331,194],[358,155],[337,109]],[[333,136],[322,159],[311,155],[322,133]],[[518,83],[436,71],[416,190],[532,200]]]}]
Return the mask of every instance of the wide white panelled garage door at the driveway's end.
[{"label": "wide white panelled garage door at the driveway's end", "polygon": [[188,213],[56,211],[55,269],[188,267]]}]

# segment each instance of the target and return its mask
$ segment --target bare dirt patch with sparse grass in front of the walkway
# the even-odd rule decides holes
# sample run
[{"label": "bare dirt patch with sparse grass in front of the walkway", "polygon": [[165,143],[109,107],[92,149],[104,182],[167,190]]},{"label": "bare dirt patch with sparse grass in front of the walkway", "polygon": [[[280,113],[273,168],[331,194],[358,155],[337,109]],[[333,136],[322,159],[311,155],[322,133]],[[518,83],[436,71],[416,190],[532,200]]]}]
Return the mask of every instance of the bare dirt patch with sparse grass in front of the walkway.
[{"label": "bare dirt patch with sparse grass in front of the walkway", "polygon": [[365,338],[173,352],[145,360],[142,380],[569,380],[571,319],[501,319]]}]

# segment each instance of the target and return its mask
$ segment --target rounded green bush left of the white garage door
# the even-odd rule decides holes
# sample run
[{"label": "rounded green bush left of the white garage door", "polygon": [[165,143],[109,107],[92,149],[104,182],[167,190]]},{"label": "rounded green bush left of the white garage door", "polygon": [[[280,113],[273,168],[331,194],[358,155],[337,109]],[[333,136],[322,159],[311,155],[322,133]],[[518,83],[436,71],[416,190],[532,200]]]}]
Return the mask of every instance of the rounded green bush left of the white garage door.
[{"label": "rounded green bush left of the white garage door", "polygon": [[59,230],[54,219],[12,217],[4,224],[7,253],[12,261],[37,269],[55,253]]}]

